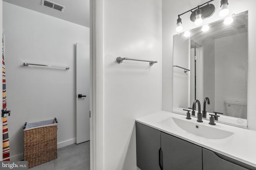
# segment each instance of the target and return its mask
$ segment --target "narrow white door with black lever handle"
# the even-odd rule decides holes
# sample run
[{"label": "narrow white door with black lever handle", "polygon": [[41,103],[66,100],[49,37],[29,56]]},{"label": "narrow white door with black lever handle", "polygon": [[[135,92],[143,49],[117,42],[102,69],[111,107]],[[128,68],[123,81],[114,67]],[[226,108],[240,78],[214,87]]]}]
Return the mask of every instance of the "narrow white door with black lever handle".
[{"label": "narrow white door with black lever handle", "polygon": [[76,43],[76,144],[90,141],[90,46]]}]

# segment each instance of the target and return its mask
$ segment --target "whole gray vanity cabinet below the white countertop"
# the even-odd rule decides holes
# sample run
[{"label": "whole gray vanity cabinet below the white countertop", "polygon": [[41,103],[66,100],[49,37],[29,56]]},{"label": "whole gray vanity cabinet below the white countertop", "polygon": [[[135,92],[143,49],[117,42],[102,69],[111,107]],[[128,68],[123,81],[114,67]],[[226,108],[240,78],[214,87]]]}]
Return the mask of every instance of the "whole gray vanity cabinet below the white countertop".
[{"label": "whole gray vanity cabinet below the white countertop", "polygon": [[136,154],[141,170],[256,170],[256,167],[138,122]]}]

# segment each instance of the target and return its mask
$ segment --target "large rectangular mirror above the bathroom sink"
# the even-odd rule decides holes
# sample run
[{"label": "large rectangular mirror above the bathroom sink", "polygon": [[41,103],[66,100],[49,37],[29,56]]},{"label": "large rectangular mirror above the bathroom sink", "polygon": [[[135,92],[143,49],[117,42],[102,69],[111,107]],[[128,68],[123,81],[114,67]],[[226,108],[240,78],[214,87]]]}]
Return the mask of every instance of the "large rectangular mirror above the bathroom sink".
[{"label": "large rectangular mirror above the bathroom sink", "polygon": [[[173,111],[195,99],[219,121],[247,126],[248,11],[174,35]],[[208,118],[208,116],[207,116]]]}]

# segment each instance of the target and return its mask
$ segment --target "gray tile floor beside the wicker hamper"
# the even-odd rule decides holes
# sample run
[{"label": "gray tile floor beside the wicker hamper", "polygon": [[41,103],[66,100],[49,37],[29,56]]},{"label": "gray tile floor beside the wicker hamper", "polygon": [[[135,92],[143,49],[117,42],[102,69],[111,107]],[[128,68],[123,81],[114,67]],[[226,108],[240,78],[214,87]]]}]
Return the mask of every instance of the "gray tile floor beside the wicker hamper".
[{"label": "gray tile floor beside the wicker hamper", "polygon": [[90,170],[90,141],[58,149],[58,158],[29,170]]}]

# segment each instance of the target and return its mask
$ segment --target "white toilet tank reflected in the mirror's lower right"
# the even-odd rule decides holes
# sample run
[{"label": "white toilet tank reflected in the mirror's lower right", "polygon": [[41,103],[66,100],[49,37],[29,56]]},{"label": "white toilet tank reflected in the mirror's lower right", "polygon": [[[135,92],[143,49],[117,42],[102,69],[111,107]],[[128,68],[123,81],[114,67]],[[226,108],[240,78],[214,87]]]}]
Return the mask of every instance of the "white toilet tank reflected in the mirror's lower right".
[{"label": "white toilet tank reflected in the mirror's lower right", "polygon": [[227,116],[247,119],[247,103],[241,101],[224,101]]}]

